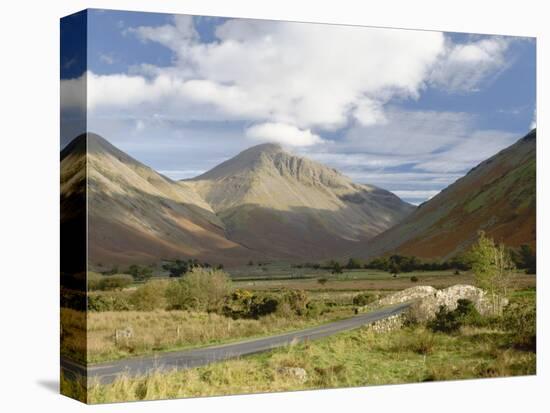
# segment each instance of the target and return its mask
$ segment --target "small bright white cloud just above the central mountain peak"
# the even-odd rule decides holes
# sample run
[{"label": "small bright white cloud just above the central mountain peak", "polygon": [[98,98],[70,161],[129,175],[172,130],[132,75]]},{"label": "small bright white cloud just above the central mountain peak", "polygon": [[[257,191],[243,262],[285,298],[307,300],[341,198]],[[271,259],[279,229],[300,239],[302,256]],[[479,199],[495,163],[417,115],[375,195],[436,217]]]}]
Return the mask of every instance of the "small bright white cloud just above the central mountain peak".
[{"label": "small bright white cloud just above the central mountain peak", "polygon": [[311,130],[301,130],[285,123],[262,123],[246,130],[246,136],[260,142],[276,142],[287,146],[311,146],[323,140]]}]

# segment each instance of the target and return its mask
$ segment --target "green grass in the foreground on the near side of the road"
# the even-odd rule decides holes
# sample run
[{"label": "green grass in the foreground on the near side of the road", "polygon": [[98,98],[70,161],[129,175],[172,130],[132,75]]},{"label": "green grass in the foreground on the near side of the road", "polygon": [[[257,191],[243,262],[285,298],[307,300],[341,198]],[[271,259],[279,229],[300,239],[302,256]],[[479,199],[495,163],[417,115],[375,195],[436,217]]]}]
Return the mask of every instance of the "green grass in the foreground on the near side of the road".
[{"label": "green grass in the foreground on the near side of the road", "polygon": [[[376,334],[367,328],[271,353],[147,377],[91,383],[88,400],[105,403],[175,397],[370,386],[530,375],[536,355],[515,350],[509,333],[468,328],[456,335],[423,327]],[[307,380],[285,370],[300,367]]]}]

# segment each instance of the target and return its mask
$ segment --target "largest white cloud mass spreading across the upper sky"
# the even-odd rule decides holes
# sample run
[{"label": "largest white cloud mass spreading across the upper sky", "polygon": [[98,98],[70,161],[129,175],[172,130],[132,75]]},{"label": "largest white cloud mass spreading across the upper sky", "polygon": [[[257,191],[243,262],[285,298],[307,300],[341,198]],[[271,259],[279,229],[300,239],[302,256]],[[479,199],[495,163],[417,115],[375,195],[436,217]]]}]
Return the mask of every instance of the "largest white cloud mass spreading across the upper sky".
[{"label": "largest white cloud mass spreading across the upper sky", "polygon": [[[202,43],[191,16],[124,33],[169,48],[173,64],[89,72],[91,111],[287,124],[320,134],[383,125],[391,99],[417,98],[427,84],[472,90],[504,65],[508,44],[500,37],[455,44],[441,32],[247,19],[225,21],[217,41]],[[62,88],[74,84],[63,81]]]}]

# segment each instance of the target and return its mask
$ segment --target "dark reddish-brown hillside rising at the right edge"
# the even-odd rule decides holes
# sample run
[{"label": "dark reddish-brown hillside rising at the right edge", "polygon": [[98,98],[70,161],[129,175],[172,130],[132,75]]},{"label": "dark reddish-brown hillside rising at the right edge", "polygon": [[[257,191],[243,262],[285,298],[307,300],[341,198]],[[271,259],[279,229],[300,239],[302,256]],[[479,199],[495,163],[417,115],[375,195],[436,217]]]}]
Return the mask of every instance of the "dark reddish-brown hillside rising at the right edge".
[{"label": "dark reddish-brown hillside rising at the right edge", "polygon": [[498,242],[535,246],[536,130],[473,168],[420,205],[400,224],[356,250],[445,258],[467,249],[484,230]]}]

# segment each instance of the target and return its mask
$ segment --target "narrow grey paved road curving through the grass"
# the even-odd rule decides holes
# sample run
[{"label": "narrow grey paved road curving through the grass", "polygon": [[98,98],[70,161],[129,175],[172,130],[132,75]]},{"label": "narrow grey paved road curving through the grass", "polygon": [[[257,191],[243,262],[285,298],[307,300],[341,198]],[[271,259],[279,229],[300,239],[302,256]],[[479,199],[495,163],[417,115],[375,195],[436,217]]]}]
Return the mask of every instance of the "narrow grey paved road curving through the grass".
[{"label": "narrow grey paved road curving through the grass", "polygon": [[216,361],[269,351],[291,343],[315,340],[331,336],[342,331],[353,330],[392,315],[402,313],[410,304],[398,304],[370,313],[360,314],[344,320],[334,321],[305,330],[269,336],[237,343],[204,347],[193,350],[160,353],[153,356],[134,357],[101,364],[85,366],[66,358],[61,358],[61,369],[68,375],[80,375],[97,378],[102,383],[112,382],[120,374],[139,376],[151,371],[168,371],[204,366]]}]

